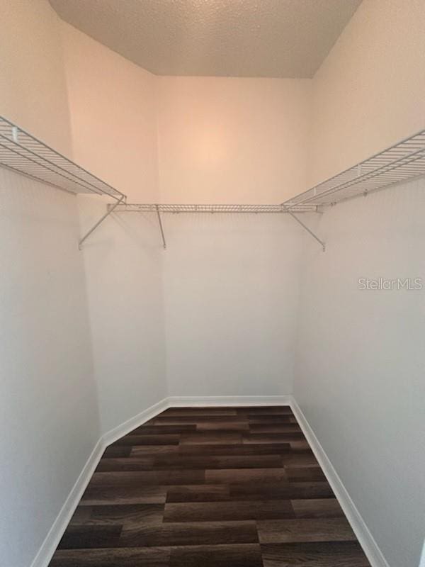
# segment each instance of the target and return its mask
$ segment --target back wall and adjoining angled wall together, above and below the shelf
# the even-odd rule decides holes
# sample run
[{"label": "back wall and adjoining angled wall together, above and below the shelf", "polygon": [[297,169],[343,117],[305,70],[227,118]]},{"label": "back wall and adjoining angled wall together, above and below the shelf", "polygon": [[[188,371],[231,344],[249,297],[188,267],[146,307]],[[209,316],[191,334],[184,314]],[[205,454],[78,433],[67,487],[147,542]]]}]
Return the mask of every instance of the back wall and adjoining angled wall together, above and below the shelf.
[{"label": "back wall and adjoining angled wall together, above and below the shelf", "polygon": [[[130,203],[278,202],[282,174],[303,188],[310,80],[154,77],[67,24],[62,37],[75,159]],[[84,232],[105,203],[78,201]],[[84,244],[103,432],[167,393],[292,392],[300,228],[163,223],[166,252],[152,214],[114,214]]]}]

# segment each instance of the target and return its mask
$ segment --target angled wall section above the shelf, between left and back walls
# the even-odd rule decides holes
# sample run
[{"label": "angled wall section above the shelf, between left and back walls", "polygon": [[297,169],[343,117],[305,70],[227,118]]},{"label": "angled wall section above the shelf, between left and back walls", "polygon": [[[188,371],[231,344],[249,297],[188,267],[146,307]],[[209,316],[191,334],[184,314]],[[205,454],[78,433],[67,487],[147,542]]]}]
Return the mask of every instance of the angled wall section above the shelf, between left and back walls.
[{"label": "angled wall section above the shelf, between left and back walls", "polygon": [[128,196],[158,201],[156,77],[61,22],[74,159]]}]

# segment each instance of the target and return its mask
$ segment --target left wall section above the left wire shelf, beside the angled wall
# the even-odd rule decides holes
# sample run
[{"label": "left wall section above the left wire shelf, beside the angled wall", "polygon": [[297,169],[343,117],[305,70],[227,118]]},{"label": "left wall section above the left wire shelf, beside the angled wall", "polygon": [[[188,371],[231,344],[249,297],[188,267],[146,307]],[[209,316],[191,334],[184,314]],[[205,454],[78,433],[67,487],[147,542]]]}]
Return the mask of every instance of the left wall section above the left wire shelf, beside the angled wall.
[{"label": "left wall section above the left wire shelf, beside the angled wall", "polygon": [[70,155],[60,19],[47,0],[0,0],[0,113]]}]

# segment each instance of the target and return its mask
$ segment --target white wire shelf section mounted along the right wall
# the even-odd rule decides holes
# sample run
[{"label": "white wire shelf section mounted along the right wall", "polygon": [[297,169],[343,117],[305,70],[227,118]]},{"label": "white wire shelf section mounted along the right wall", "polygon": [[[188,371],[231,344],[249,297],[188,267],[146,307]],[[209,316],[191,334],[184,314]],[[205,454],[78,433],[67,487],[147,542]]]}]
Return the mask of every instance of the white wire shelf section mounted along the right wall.
[{"label": "white wire shelf section mounted along the right wall", "polygon": [[425,175],[425,130],[283,203],[329,206]]}]

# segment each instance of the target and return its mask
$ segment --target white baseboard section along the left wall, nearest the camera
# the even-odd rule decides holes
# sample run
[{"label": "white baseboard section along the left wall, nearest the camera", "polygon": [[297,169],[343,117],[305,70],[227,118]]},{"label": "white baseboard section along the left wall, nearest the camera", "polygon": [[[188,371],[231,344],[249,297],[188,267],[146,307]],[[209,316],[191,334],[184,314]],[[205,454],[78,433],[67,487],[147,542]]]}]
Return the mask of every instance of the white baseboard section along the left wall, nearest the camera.
[{"label": "white baseboard section along the left wall, nearest the camera", "polygon": [[47,567],[50,563],[50,559],[59,545],[62,535],[69,524],[69,520],[71,520],[72,515],[81,500],[81,496],[83,495],[84,490],[86,490],[86,486],[89,484],[91,475],[94,473],[103,451],[104,445],[103,439],[101,438],[96,443],[96,447],[94,447],[93,451],[91,451],[89,459],[87,459],[87,462],[79,474],[76,483],[72,487],[67,500],[65,500],[55,522],[53,522],[45,540],[42,542],[37,555],[31,563],[31,567]]}]

